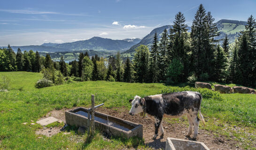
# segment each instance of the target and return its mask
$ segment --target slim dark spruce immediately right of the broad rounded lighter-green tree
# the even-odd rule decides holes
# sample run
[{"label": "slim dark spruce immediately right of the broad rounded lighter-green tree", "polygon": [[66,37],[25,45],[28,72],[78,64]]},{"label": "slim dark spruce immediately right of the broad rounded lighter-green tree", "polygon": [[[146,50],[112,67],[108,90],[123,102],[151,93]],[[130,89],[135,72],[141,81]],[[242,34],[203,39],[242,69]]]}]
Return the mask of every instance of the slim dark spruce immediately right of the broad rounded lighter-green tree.
[{"label": "slim dark spruce immediately right of the broad rounded lighter-green tree", "polygon": [[153,40],[153,45],[151,46],[151,51],[150,51],[150,73],[151,75],[150,77],[150,82],[158,82],[158,74],[159,74],[159,50],[158,50],[158,38],[157,38],[157,34],[155,32],[154,35],[154,40]]}]

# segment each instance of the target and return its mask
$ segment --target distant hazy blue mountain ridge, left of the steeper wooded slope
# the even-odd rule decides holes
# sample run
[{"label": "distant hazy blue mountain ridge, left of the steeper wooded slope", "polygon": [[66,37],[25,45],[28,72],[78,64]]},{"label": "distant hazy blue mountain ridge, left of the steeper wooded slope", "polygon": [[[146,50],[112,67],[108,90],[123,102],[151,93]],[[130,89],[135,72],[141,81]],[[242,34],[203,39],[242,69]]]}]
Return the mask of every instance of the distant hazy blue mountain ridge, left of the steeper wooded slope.
[{"label": "distant hazy blue mountain ridge, left of the steeper wooded slope", "polygon": [[133,41],[126,40],[113,40],[110,38],[93,37],[83,41],[76,41],[71,43],[62,43],[54,45],[52,47],[59,49],[69,49],[72,51],[79,51],[85,49],[93,49],[95,51],[124,51],[128,50],[132,45]]}]

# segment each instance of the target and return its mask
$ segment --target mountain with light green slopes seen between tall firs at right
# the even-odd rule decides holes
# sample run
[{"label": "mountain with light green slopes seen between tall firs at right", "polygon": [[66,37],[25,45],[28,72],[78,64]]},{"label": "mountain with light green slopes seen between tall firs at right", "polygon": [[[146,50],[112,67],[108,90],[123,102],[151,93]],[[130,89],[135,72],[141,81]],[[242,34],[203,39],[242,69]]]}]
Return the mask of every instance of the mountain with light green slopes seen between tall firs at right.
[{"label": "mountain with light green slopes seen between tall firs at right", "polygon": [[241,30],[245,30],[247,22],[237,20],[222,19],[217,22],[217,28],[220,31],[220,36],[216,39],[223,39],[227,35],[229,42],[234,42],[235,38],[239,36]]}]

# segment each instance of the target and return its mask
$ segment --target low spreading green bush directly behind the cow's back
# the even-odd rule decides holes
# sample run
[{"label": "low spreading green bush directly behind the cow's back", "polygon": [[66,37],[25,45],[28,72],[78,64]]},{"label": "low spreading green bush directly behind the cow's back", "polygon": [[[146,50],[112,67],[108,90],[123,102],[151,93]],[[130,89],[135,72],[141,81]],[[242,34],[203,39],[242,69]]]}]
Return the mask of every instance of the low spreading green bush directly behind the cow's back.
[{"label": "low spreading green bush directly behind the cow's back", "polygon": [[195,89],[189,86],[186,87],[177,87],[177,86],[168,86],[167,88],[163,89],[161,91],[161,94],[166,94],[166,93],[173,93],[173,92],[181,92],[181,91],[197,91],[202,94],[203,98],[213,98],[215,100],[222,100],[221,95],[218,91],[213,91],[209,89]]}]

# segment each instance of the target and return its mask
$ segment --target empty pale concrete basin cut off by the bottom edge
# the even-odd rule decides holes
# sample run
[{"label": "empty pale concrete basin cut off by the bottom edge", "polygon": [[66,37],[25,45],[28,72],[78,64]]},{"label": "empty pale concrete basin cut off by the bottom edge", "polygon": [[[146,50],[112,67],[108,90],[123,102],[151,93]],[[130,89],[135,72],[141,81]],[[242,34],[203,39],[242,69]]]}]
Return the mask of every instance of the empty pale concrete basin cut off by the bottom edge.
[{"label": "empty pale concrete basin cut off by the bottom edge", "polygon": [[202,142],[168,137],[165,144],[165,150],[209,150],[209,148]]}]

